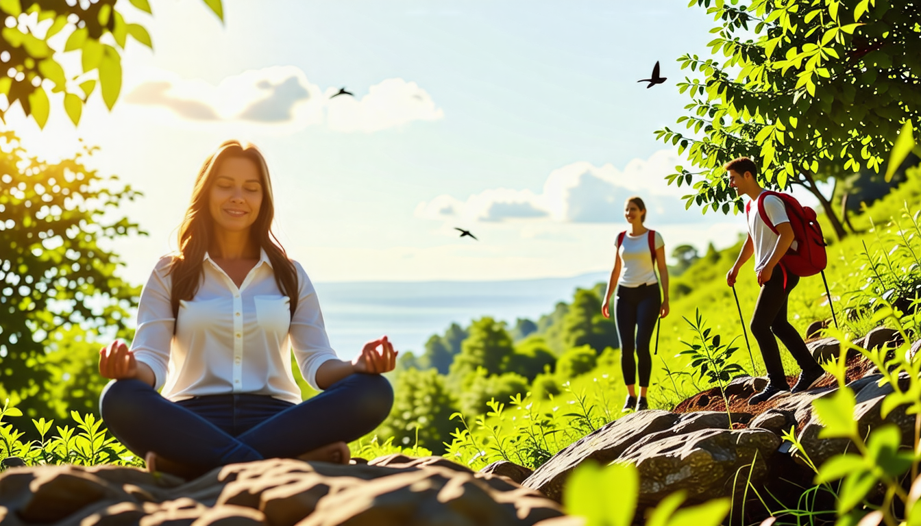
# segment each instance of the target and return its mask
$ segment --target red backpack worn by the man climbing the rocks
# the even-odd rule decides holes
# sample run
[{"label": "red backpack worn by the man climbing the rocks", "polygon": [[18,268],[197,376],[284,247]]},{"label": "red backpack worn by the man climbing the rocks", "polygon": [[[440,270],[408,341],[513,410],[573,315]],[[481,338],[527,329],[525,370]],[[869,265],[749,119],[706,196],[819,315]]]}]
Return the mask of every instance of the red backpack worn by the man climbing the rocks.
[{"label": "red backpack worn by the man climbing the rocks", "polygon": [[[800,205],[797,198],[789,193],[771,191],[761,193],[758,196],[758,214],[764,224],[767,225],[767,228],[770,228],[775,234],[777,234],[777,228],[768,219],[767,212],[764,211],[764,198],[768,195],[776,195],[784,203],[787,217],[790,219],[790,227],[793,228],[794,239],[797,241],[797,250],[794,251],[791,248],[787,250],[784,257],[780,258],[780,263],[783,263],[783,267],[788,272],[799,276],[817,275],[825,270],[825,265],[828,264],[828,258],[825,255],[827,245],[824,238],[822,238],[822,227],[816,219],[815,210],[809,206]],[[749,201],[745,205],[746,217],[748,217],[751,209],[752,202]]]}]

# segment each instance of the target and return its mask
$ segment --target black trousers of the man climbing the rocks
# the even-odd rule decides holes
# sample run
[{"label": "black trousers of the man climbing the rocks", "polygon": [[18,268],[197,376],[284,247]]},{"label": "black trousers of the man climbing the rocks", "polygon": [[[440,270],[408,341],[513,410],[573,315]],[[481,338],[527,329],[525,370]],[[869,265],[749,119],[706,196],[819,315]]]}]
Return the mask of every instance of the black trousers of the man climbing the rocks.
[{"label": "black trousers of the man climbing the rocks", "polygon": [[[784,284],[786,275],[786,286]],[[752,336],[761,348],[764,358],[764,368],[767,369],[767,379],[772,385],[787,389],[787,376],[784,374],[784,364],[780,361],[780,349],[777,347],[777,338],[787,346],[787,350],[797,360],[799,368],[810,370],[819,366],[803,343],[797,330],[787,321],[787,298],[790,291],[799,283],[799,276],[785,273],[777,265],[774,274],[767,283],[761,287],[758,301],[752,314]]]}]

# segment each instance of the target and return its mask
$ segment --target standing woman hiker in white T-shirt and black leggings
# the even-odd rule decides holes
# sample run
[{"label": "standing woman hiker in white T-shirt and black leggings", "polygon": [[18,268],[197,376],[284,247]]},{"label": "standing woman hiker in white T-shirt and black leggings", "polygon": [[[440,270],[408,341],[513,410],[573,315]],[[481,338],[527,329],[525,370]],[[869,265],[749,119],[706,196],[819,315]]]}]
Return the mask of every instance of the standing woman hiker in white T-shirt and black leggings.
[{"label": "standing woman hiker in white T-shirt and black leggings", "polygon": [[[655,230],[646,228],[646,205],[639,197],[630,197],[624,205],[624,217],[630,229],[617,236],[614,269],[604,293],[601,314],[611,317],[609,303],[614,286],[617,286],[615,319],[621,340],[621,369],[627,386],[624,411],[649,408],[646,392],[652,374],[652,357],[649,340],[656,321],[669,314],[669,270],[665,264],[665,241]],[[659,267],[662,292],[655,267]],[[634,358],[634,353],[636,358]],[[639,398],[636,397],[635,378],[639,366]]]}]

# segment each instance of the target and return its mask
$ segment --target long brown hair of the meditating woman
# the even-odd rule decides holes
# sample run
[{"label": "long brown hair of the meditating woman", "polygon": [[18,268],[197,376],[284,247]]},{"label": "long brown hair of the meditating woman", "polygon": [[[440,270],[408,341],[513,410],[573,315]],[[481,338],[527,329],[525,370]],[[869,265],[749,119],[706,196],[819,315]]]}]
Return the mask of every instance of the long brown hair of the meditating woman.
[{"label": "long brown hair of the meditating woman", "polygon": [[[297,269],[287,257],[281,243],[272,233],[272,220],[275,214],[274,199],[272,196],[272,181],[269,180],[269,169],[265,164],[262,152],[250,144],[242,145],[239,141],[227,141],[218,146],[217,151],[209,156],[202,165],[195,187],[192,190],[192,203],[185,211],[185,218],[179,231],[180,253],[173,257],[169,265],[169,274],[172,275],[172,290],[170,302],[173,317],[179,319],[179,302],[194,298],[198,286],[204,275],[204,252],[211,246],[214,232],[214,222],[208,208],[209,192],[217,170],[227,158],[248,158],[259,169],[262,181],[262,205],[259,216],[250,228],[251,239],[265,251],[272,263],[275,283],[282,294],[290,298],[291,317],[297,309]],[[174,330],[175,333],[175,325]]]}]

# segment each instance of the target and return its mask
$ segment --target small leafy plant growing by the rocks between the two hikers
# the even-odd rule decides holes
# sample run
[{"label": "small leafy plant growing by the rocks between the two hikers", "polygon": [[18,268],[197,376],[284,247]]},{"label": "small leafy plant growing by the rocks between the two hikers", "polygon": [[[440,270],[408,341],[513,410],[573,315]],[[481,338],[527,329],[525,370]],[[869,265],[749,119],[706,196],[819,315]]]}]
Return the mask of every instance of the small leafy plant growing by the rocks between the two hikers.
[{"label": "small leafy plant growing by the rocks between the two hikers", "polygon": [[700,315],[700,309],[694,310],[694,321],[687,321],[694,332],[694,339],[691,342],[684,342],[689,348],[678,353],[678,356],[687,356],[691,358],[690,368],[692,374],[696,374],[701,380],[706,379],[711,385],[716,384],[719,387],[719,393],[726,403],[726,415],[729,415],[729,426],[732,426],[732,416],[729,413],[729,398],[726,396],[726,385],[729,384],[736,376],[745,374],[745,369],[737,363],[729,363],[732,355],[739,350],[739,347],[732,345],[739,339],[736,336],[729,344],[721,344],[719,334],[712,334],[711,329],[704,326],[704,320]]}]

